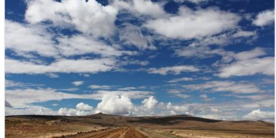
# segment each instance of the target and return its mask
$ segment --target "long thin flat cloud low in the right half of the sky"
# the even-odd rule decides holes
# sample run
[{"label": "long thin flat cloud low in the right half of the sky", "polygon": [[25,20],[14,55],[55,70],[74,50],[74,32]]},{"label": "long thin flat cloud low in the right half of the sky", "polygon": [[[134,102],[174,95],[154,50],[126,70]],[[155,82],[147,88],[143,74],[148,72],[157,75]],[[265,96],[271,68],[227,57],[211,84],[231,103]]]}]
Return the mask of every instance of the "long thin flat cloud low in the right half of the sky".
[{"label": "long thin flat cloud low in the right half of the sky", "polygon": [[233,92],[233,93],[256,93],[263,92],[253,83],[235,81],[208,81],[200,84],[184,85],[188,90],[207,90],[208,92]]}]

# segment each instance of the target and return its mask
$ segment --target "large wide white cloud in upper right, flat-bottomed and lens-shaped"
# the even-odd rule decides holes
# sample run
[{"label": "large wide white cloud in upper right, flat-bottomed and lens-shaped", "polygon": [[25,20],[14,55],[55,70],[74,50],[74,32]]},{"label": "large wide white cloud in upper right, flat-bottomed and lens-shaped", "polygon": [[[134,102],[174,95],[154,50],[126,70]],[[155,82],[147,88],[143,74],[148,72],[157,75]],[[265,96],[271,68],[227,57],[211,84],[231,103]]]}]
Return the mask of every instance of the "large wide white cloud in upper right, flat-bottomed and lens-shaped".
[{"label": "large wide white cloud in upper right, flat-bottomed and lens-shaped", "polygon": [[215,8],[191,10],[182,6],[179,15],[147,21],[144,26],[173,39],[208,37],[237,27],[236,14]]}]

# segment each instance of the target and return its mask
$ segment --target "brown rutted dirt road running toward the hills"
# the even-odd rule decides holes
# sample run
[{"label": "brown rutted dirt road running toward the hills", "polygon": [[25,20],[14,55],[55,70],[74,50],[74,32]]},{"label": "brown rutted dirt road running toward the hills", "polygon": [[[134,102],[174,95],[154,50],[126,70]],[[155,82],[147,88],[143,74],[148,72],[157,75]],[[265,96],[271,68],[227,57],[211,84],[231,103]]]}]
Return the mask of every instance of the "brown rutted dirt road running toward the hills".
[{"label": "brown rutted dirt road running toward the hills", "polygon": [[99,130],[99,131],[91,131],[91,132],[79,132],[76,135],[67,135],[66,138],[146,138],[148,136],[144,135],[139,130],[135,128],[128,127],[128,128],[110,128],[108,130]]}]

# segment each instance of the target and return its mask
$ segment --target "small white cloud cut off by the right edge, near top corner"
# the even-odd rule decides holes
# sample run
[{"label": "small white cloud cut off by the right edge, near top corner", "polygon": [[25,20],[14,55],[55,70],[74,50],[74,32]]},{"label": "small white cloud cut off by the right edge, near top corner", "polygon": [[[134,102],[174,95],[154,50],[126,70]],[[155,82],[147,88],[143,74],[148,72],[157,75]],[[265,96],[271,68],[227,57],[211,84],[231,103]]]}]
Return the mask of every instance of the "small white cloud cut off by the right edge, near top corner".
[{"label": "small white cloud cut off by the right edge, near top corner", "polygon": [[265,10],[263,12],[259,12],[257,17],[253,20],[253,24],[255,26],[267,26],[274,22],[274,10]]}]

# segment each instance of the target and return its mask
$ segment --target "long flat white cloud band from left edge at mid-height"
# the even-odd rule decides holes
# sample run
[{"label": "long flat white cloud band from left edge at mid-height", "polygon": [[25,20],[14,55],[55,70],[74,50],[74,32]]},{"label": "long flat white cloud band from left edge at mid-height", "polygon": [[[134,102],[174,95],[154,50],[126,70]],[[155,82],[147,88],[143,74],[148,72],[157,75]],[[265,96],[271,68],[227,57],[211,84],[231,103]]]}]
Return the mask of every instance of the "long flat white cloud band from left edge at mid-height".
[{"label": "long flat white cloud band from left edge at mid-height", "polygon": [[115,68],[115,59],[59,59],[49,65],[28,61],[5,60],[6,73],[42,74],[47,72],[106,72]]}]

